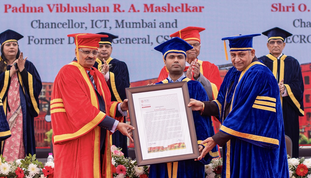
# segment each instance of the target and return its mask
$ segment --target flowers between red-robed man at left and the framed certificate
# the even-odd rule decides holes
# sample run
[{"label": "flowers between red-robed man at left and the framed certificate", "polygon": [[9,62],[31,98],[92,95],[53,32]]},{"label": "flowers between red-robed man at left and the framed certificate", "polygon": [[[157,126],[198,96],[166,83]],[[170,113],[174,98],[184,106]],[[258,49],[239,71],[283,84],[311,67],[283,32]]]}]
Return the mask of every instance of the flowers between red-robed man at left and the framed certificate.
[{"label": "flowers between red-robed man at left and the framed certificate", "polygon": [[114,178],[148,178],[149,166],[137,166],[137,161],[124,157],[121,150],[121,148],[114,145],[111,146],[111,163]]}]

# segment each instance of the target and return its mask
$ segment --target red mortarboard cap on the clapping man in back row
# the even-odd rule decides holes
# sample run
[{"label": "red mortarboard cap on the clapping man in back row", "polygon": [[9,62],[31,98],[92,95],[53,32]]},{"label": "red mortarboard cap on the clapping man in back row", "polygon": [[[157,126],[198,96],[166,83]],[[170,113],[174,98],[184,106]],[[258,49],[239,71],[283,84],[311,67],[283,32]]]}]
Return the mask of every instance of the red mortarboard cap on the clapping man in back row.
[{"label": "red mortarboard cap on the clapping man in back row", "polygon": [[184,29],[181,29],[173,34],[170,35],[170,37],[179,37],[183,39],[184,41],[188,40],[196,40],[201,43],[201,38],[199,32],[205,30],[205,28],[196,27],[196,26],[188,26]]}]

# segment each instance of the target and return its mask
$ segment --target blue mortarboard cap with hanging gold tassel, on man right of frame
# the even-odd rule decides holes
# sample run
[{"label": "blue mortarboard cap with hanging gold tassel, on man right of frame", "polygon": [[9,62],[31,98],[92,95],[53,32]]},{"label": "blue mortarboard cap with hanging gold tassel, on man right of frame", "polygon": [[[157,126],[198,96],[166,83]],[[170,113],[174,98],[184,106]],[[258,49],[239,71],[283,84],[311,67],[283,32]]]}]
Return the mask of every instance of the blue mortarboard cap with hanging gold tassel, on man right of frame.
[{"label": "blue mortarboard cap with hanging gold tassel, on man right of frame", "polygon": [[229,40],[230,51],[248,51],[253,49],[253,37],[261,34],[236,35],[222,38],[224,40],[226,60],[228,60],[227,46],[225,40]]}]

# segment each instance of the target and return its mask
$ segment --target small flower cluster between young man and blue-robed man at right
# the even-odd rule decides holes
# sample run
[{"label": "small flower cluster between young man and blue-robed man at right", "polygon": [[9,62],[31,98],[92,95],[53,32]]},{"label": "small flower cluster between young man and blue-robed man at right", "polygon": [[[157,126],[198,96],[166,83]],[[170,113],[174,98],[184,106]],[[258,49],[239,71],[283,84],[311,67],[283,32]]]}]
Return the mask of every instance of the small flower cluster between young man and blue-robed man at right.
[{"label": "small flower cluster between young man and blue-robed man at right", "polygon": [[222,171],[222,158],[214,158],[210,164],[205,165],[205,177],[206,178],[221,178]]}]

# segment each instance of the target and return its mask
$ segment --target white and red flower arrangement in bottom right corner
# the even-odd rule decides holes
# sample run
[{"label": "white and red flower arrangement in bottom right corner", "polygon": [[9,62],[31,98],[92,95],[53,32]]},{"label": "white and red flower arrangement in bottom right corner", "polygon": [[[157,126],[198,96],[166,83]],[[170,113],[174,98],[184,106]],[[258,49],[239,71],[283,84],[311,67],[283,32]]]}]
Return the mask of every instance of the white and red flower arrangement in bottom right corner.
[{"label": "white and red flower arrangement in bottom right corner", "polygon": [[287,155],[290,178],[311,178],[311,158],[291,158]]}]

